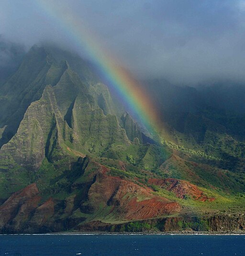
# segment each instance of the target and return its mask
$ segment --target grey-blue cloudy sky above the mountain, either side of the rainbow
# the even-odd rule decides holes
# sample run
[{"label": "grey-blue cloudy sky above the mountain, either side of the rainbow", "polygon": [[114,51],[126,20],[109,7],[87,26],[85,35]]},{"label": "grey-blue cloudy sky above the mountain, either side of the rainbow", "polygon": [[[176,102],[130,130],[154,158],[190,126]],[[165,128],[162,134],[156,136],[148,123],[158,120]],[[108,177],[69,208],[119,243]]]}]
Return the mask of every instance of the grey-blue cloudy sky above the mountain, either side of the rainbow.
[{"label": "grey-blue cloudy sky above the mountain, either side of the rainbow", "polygon": [[[50,41],[76,50],[37,1],[0,0],[0,35],[26,49]],[[68,3],[78,22],[140,79],[245,83],[245,0],[51,1]]]}]

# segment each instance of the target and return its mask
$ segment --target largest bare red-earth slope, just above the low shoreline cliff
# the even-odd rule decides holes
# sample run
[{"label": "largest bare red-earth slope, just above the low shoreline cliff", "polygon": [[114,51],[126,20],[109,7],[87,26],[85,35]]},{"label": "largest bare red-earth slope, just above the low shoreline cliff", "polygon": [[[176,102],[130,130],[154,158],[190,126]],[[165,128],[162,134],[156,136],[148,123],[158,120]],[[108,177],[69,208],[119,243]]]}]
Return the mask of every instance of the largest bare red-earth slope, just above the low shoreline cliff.
[{"label": "largest bare red-earth slope, just above the low shoreline cliff", "polygon": [[110,206],[119,219],[148,219],[178,213],[181,207],[164,197],[152,195],[149,188],[118,177],[99,173],[89,189],[91,204]]}]

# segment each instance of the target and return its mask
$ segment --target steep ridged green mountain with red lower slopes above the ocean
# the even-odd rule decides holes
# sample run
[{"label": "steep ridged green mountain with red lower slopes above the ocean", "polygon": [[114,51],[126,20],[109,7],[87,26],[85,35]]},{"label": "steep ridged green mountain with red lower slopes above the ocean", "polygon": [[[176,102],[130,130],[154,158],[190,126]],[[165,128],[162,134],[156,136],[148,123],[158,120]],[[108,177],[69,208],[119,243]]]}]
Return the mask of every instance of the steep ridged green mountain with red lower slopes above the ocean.
[{"label": "steep ridged green mountain with red lower slopes above the ocean", "polygon": [[243,117],[156,87],[159,141],[88,61],[33,46],[0,84],[0,232],[242,231]]}]

